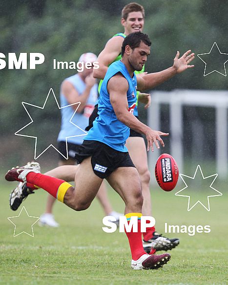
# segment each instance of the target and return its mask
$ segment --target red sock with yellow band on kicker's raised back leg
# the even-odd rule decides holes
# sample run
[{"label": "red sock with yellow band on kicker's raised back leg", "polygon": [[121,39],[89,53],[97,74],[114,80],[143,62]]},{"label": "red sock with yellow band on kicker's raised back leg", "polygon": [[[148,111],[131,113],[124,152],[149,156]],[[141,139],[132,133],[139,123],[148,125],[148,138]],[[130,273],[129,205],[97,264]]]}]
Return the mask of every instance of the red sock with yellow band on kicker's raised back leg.
[{"label": "red sock with yellow band on kicker's raised back leg", "polygon": [[28,173],[26,175],[26,180],[28,183],[36,185],[47,191],[49,194],[57,198],[62,203],[66,191],[70,187],[72,187],[68,182],[62,179],[34,172]]}]

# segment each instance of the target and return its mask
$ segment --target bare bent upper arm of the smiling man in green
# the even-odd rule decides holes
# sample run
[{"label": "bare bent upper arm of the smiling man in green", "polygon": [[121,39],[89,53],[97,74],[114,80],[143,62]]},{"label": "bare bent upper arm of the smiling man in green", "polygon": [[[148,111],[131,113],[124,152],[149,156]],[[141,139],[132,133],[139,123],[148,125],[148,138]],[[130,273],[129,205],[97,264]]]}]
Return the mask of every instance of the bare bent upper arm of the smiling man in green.
[{"label": "bare bent upper arm of the smiling man in green", "polygon": [[93,77],[104,79],[108,66],[121,53],[121,47],[122,47],[123,42],[124,42],[124,38],[121,36],[111,38],[107,42],[103,51],[98,56],[97,61],[99,62],[99,68],[93,69]]}]

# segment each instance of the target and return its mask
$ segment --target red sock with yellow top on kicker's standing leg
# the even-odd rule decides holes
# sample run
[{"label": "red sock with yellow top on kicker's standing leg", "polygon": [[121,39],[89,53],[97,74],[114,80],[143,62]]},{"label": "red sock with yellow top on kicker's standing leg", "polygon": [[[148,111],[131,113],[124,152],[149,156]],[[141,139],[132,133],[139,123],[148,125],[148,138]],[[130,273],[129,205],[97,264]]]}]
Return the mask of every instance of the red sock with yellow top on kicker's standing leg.
[{"label": "red sock with yellow top on kicker's standing leg", "polygon": [[141,213],[129,213],[126,214],[125,217],[130,219],[133,216],[138,217],[138,232],[133,233],[133,230],[131,230],[130,233],[126,233],[126,236],[129,241],[130,249],[131,249],[131,256],[133,260],[138,260],[143,254],[145,254],[144,248],[143,248],[143,242],[142,242],[142,233],[141,233]]}]

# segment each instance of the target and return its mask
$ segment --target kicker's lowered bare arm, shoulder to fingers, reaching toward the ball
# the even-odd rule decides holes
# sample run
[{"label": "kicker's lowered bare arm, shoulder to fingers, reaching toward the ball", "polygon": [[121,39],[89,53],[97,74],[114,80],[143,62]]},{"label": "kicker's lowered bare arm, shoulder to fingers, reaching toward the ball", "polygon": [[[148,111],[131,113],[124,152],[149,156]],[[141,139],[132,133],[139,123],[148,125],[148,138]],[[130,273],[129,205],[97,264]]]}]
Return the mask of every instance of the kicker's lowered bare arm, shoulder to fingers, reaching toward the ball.
[{"label": "kicker's lowered bare arm, shoulder to fingers, reaching toward the ball", "polygon": [[145,134],[147,150],[151,147],[153,151],[153,142],[156,147],[159,148],[157,140],[160,141],[162,146],[165,146],[160,135],[168,135],[167,133],[151,130],[145,124],[141,123],[133,114],[128,112],[126,97],[128,82],[122,74],[118,73],[108,81],[107,90],[117,119],[132,130]]}]

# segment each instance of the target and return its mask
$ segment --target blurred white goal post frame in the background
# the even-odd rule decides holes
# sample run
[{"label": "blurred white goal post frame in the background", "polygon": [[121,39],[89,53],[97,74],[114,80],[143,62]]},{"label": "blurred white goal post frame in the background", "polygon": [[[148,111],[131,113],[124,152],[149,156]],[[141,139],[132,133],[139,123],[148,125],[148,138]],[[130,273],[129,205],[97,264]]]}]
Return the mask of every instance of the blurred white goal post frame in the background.
[{"label": "blurred white goal post frame in the background", "polygon": [[[216,157],[216,171],[218,177],[225,179],[228,174],[228,91],[220,90],[181,90],[151,91],[151,107],[148,109],[148,126],[160,130],[161,105],[169,106],[169,133],[170,154],[175,158],[180,173],[183,173],[183,107],[212,107],[215,108],[215,135],[214,146]],[[162,131],[162,130],[161,130]],[[149,169],[153,173],[154,166],[160,151],[149,152]],[[200,164],[200,161],[199,161]]]}]

